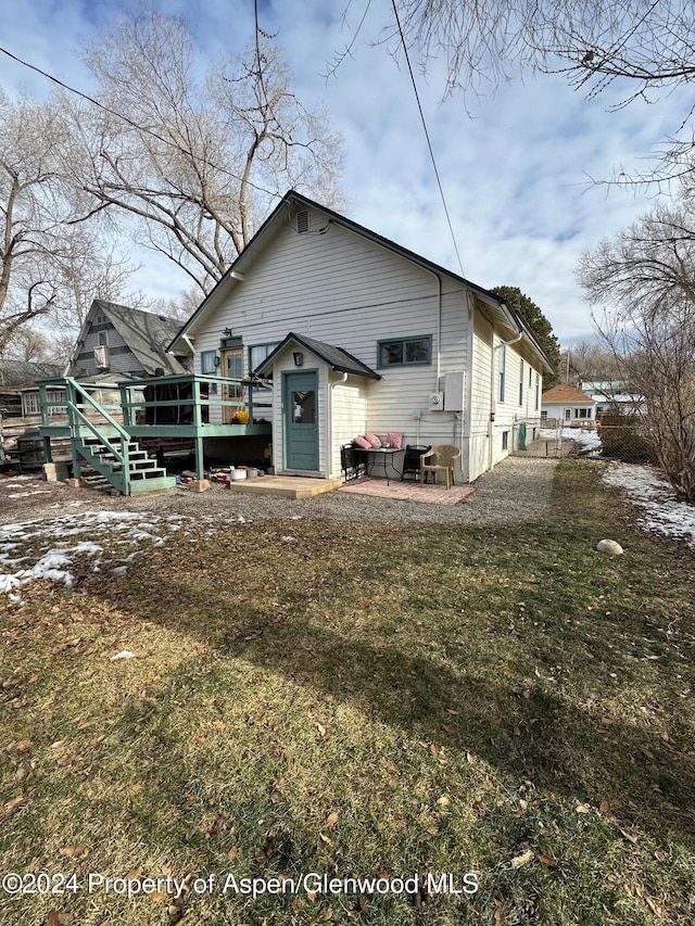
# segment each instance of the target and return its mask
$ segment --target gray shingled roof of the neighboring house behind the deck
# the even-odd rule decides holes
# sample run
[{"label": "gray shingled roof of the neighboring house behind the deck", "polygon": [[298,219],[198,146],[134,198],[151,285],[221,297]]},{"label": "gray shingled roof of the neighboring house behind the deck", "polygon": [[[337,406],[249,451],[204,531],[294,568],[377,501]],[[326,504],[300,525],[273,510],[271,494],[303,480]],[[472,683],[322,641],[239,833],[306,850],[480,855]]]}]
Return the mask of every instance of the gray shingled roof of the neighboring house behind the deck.
[{"label": "gray shingled roof of the neighboring house behind the deck", "polygon": [[167,318],[165,315],[155,315],[153,312],[143,312],[141,308],[130,308],[127,305],[96,299],[89,308],[78,340],[84,341],[87,325],[98,313],[111,321],[148,373],[153,373],[157,367],[162,367],[165,373],[172,376],[188,372],[174,354],[166,353],[167,345],[181,327],[179,321]]}]

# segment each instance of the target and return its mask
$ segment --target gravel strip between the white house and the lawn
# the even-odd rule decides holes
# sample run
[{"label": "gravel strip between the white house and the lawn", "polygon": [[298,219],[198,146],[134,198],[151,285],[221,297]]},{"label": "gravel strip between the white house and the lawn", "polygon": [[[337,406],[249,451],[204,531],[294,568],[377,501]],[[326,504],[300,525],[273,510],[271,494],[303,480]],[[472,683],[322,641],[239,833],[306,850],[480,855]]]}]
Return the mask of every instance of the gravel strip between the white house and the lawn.
[{"label": "gravel strip between the white house and the lawn", "polygon": [[508,457],[475,484],[477,492],[463,505],[424,505],[328,492],[292,500],[252,497],[213,485],[207,492],[184,489],[146,497],[124,498],[101,491],[70,489],[40,477],[0,475],[0,523],[53,518],[66,508],[85,510],[154,511],[157,513],[219,516],[229,520],[314,518],[370,523],[508,524],[541,518],[547,510],[557,460]]}]

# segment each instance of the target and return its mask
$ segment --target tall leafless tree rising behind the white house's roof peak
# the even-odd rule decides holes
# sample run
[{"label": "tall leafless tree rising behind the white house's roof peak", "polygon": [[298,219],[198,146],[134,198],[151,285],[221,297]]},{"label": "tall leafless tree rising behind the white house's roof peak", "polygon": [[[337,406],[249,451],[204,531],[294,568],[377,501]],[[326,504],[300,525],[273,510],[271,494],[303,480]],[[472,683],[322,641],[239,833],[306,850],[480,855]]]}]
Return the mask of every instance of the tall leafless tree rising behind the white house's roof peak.
[{"label": "tall leafless tree rising behind the white house's roof peak", "polygon": [[65,164],[83,217],[105,211],[165,254],[201,294],[245,248],[288,187],[334,202],[340,139],[292,92],[260,39],[204,78],[181,20],[143,12],[85,53],[103,109],[73,107]]}]

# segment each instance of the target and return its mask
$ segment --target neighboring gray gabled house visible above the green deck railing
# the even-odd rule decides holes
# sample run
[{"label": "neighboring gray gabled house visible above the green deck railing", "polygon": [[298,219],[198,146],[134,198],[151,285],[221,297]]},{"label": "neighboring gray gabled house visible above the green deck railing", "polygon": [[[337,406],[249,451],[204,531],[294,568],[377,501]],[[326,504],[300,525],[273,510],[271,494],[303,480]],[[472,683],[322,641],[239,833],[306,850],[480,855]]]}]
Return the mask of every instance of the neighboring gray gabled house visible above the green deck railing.
[{"label": "neighboring gray gabled house visible above the green deck railing", "polygon": [[164,353],[180,327],[163,315],[96,299],[64,375],[84,380],[103,373],[137,378],[156,370],[161,376],[188,372],[185,357]]}]

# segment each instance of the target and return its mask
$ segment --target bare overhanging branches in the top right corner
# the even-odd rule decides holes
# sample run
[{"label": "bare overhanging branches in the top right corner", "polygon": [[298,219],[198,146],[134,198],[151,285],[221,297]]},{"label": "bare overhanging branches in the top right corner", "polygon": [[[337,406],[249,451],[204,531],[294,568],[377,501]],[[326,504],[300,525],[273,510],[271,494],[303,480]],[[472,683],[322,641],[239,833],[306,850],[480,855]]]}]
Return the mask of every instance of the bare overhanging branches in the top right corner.
[{"label": "bare overhanging branches in the top right corner", "polygon": [[[616,84],[618,107],[695,80],[692,0],[395,0],[405,40],[446,62],[446,91],[479,92],[515,69],[563,74],[587,98]],[[400,34],[396,29],[400,41]],[[393,34],[389,36],[392,38]],[[683,113],[692,123],[693,109]],[[693,141],[670,140],[657,169],[619,182],[670,179],[691,169]]]}]

